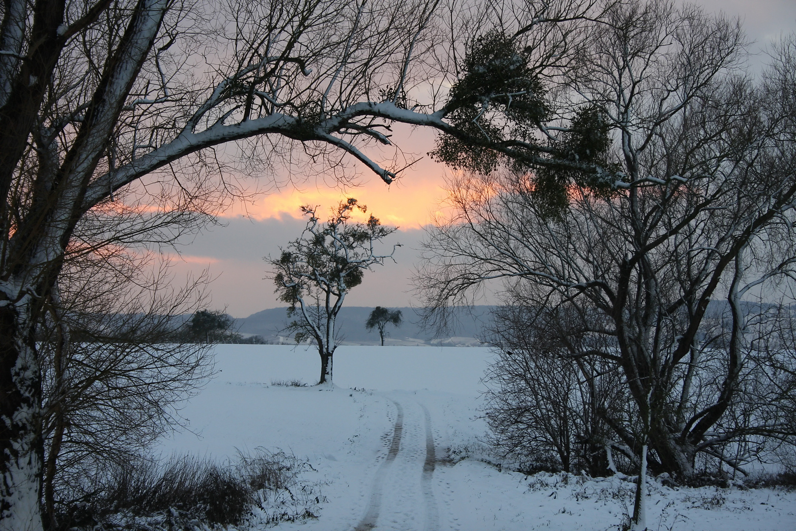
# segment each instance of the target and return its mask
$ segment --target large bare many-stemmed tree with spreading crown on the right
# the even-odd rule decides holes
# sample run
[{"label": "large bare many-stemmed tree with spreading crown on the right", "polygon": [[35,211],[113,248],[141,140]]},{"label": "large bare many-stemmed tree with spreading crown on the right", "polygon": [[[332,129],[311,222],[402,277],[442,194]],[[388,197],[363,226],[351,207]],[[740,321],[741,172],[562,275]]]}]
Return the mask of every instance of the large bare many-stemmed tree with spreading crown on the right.
[{"label": "large bare many-stemmed tree with spreading crown on the right", "polygon": [[[648,461],[687,480],[697,454],[740,436],[723,419],[740,400],[743,300],[793,275],[793,50],[783,45],[755,87],[735,70],[735,21],[666,2],[612,7],[557,92],[570,119],[547,132],[575,160],[602,160],[619,178],[470,166],[480,174],[451,180],[455,214],[427,242],[418,286],[432,309],[487,279],[521,279],[538,288],[527,306],[577,314],[581,333],[612,339],[567,345],[561,326],[573,359],[615,364],[626,378],[641,424],[617,431],[642,471],[634,529],[644,527]],[[729,312],[721,348],[700,335],[714,299]],[[717,385],[697,395],[700,371]],[[612,412],[601,415],[620,427]],[[790,429],[758,417],[743,432]]]}]

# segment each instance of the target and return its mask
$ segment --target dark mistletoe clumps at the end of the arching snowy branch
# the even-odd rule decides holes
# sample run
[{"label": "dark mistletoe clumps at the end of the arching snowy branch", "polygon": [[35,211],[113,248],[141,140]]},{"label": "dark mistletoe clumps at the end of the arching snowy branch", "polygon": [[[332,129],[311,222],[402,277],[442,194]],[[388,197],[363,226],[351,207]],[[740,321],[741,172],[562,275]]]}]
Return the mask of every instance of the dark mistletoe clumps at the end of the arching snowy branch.
[{"label": "dark mistletoe clumps at the end of the arching snowy branch", "polygon": [[592,103],[573,111],[560,135],[540,140],[540,124],[551,110],[530,51],[496,31],[470,43],[447,103],[456,134],[440,135],[431,156],[482,175],[504,163],[529,180],[540,213],[554,218],[567,208],[572,186],[614,193],[615,178],[607,175],[615,176],[619,166],[610,157],[606,112]]}]

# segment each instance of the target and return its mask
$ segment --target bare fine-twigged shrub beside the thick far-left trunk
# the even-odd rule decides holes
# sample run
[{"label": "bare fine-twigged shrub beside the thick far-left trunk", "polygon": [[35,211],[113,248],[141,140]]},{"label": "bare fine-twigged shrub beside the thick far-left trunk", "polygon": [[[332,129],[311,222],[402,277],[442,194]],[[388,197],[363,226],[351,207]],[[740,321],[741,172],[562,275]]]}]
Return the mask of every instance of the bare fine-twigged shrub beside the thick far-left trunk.
[{"label": "bare fine-twigged shrub beside the thick far-left trunk", "polygon": [[[103,232],[130,236],[130,217],[116,221]],[[162,237],[157,230],[146,236]],[[139,459],[184,424],[179,403],[213,370],[208,345],[181,339],[181,315],[201,306],[206,283],[200,277],[174,290],[167,262],[152,253],[109,244],[68,248],[37,328],[41,506],[50,528],[64,524],[57,515],[73,502],[96,494],[85,489],[104,467]]]}]

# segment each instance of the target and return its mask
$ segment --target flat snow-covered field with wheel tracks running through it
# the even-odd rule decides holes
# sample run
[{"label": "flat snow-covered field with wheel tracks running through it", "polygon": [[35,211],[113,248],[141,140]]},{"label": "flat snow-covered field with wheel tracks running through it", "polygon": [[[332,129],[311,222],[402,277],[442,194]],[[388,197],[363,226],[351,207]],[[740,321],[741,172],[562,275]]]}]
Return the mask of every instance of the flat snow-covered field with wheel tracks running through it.
[{"label": "flat snow-covered field with wheel tracks running through it", "polygon": [[[633,485],[618,478],[526,477],[477,459],[489,349],[344,346],[327,388],[311,386],[311,349],[224,345],[216,355],[217,377],[182,410],[191,431],[162,451],[223,460],[263,447],[305,459],[318,518],[276,529],[603,531],[621,529],[631,509]],[[310,386],[274,385],[294,380]],[[652,482],[649,494],[649,529],[796,529],[793,491]]]}]

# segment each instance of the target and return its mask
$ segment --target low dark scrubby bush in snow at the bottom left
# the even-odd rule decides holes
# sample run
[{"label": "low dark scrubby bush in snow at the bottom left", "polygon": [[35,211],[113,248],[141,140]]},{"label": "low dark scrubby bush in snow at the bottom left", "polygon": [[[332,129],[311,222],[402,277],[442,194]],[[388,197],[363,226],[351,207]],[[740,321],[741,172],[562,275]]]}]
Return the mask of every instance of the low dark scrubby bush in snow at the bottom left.
[{"label": "low dark scrubby bush in snow at the bottom left", "polygon": [[[310,465],[295,456],[262,449],[253,456],[241,454],[238,463],[182,455],[164,463],[138,459],[112,465],[80,486],[82,498],[60,504],[53,531],[96,529],[98,525],[106,531],[131,526],[141,531],[201,529],[202,525],[212,529],[244,523],[255,508],[266,515],[268,523],[314,517],[314,507],[310,509],[307,503],[317,504],[322,498],[298,479],[305,470],[311,470]],[[292,490],[310,496],[296,497]],[[283,507],[288,499],[291,506]]]}]

